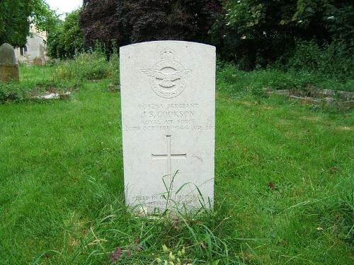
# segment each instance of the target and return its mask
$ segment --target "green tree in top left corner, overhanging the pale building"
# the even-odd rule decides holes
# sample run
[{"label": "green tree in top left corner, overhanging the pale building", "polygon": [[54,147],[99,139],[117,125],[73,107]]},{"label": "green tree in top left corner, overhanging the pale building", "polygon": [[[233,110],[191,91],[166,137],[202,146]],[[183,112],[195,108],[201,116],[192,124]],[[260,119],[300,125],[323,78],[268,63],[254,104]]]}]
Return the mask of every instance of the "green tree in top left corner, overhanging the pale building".
[{"label": "green tree in top left corner, overhanging the pale building", "polygon": [[23,46],[30,35],[30,25],[50,31],[58,20],[44,0],[1,0],[0,44]]}]

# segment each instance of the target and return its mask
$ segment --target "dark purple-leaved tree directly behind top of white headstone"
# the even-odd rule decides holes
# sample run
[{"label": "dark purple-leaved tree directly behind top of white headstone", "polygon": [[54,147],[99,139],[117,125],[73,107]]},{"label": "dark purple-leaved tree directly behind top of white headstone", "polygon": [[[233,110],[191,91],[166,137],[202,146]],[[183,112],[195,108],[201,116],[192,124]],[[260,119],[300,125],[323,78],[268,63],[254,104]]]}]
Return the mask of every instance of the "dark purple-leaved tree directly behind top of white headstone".
[{"label": "dark purple-leaved tree directly behind top of white headstone", "polygon": [[85,0],[80,25],[87,45],[149,40],[209,42],[217,0]]}]

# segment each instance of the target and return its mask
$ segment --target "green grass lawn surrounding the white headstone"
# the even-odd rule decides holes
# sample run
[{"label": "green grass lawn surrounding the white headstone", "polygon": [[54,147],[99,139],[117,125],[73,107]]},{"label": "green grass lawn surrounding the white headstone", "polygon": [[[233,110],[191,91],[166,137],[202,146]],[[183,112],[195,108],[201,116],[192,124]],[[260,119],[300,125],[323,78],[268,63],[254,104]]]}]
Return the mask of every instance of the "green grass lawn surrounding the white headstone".
[{"label": "green grass lawn surrounding the white headstone", "polygon": [[262,98],[257,73],[236,72],[242,85],[223,70],[234,74],[217,75],[215,210],[178,219],[125,208],[110,80],[0,105],[0,264],[110,264],[118,248],[116,264],[156,264],[162,245],[194,264],[353,264],[353,111]]}]

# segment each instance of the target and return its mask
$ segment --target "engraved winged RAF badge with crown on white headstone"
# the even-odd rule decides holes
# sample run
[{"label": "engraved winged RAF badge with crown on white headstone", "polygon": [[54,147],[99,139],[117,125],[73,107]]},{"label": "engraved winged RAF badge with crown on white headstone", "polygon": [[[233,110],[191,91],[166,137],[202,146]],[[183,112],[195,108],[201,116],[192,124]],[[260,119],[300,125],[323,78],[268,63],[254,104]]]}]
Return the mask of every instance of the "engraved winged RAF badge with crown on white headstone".
[{"label": "engraved winged RAF badge with crown on white headstone", "polygon": [[175,56],[173,49],[164,49],[160,52],[162,61],[152,69],[142,69],[149,76],[150,87],[161,98],[176,98],[181,95],[187,84],[187,74],[192,71],[175,61]]}]

